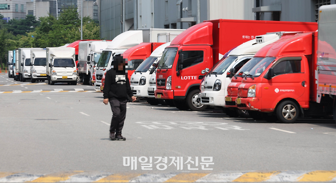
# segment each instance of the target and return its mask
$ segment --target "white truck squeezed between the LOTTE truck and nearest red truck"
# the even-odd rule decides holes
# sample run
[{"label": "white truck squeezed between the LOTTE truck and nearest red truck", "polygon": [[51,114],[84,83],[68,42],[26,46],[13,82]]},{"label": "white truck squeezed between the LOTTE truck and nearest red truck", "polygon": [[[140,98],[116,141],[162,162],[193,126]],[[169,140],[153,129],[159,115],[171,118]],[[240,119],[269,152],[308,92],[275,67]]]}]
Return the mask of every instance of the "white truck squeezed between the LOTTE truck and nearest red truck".
[{"label": "white truck squeezed between the LOTTE truck and nearest red truck", "polygon": [[[253,58],[259,49],[277,41],[281,35],[282,33],[270,33],[256,36],[254,40],[245,42],[231,50],[227,57],[222,58],[204,77],[199,95],[200,104],[225,107],[227,86],[234,73]],[[224,110],[229,110],[229,108],[224,108]],[[236,116],[237,113],[238,111],[226,111],[226,114],[232,114],[232,116]]]}]

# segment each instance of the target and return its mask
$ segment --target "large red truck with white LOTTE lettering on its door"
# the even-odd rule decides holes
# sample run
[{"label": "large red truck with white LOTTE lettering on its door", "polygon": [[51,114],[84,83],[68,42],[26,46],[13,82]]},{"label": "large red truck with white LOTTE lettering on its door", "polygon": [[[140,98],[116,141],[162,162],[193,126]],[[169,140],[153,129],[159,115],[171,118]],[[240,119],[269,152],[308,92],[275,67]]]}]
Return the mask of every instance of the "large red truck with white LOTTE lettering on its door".
[{"label": "large red truck with white LOTTE lettering on its door", "polygon": [[214,64],[232,47],[257,35],[279,31],[315,31],[317,23],[258,20],[208,20],[186,29],[168,46],[157,73],[155,98],[173,99],[179,109],[203,110],[200,83],[205,68]]}]

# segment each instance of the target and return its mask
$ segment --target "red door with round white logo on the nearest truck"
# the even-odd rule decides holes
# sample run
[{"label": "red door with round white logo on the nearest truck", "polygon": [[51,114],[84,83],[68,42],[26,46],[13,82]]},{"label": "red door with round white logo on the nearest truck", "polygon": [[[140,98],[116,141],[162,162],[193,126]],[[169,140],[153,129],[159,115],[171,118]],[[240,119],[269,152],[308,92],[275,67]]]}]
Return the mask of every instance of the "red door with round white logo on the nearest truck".
[{"label": "red door with round white logo on the nearest truck", "polygon": [[266,73],[262,78],[262,109],[274,109],[284,98],[300,100],[305,93],[305,82],[309,81],[309,78],[305,78],[303,66],[302,57],[279,58],[271,66],[273,77],[267,79]]}]

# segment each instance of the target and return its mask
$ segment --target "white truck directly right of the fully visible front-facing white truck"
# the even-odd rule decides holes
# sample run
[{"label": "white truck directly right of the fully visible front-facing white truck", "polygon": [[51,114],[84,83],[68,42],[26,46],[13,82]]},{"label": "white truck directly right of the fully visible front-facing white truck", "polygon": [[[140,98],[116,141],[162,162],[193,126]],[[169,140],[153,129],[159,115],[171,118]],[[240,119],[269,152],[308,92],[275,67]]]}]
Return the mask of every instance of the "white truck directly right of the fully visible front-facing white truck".
[{"label": "white truck directly right of the fully visible front-facing white truck", "polygon": [[78,77],[83,84],[91,85],[93,67],[98,63],[102,51],[107,48],[108,41],[81,41],[78,45]]}]

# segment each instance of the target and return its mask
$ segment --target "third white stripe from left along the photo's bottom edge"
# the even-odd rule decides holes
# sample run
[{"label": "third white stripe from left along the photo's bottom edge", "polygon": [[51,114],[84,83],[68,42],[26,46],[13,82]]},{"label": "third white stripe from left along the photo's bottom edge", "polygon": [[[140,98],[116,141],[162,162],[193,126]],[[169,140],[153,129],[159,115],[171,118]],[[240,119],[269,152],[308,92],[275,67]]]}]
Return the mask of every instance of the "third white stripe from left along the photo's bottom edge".
[{"label": "third white stripe from left along the photo's bottom edge", "polygon": [[165,182],[177,174],[178,173],[142,174],[133,178],[130,182]]}]

